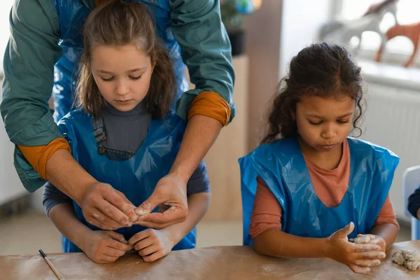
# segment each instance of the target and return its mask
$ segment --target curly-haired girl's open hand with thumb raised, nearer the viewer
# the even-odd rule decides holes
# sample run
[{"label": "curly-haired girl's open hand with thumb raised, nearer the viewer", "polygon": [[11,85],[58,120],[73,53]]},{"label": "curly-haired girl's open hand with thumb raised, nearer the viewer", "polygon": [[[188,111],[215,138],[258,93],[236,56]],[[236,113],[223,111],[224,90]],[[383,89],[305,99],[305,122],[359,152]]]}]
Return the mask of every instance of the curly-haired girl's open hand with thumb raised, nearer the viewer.
[{"label": "curly-haired girl's open hand with thumb raised, nearer the viewer", "polygon": [[355,244],[349,242],[347,235],[354,230],[351,222],[345,228],[337,230],[328,237],[328,256],[332,260],[348,266],[353,272],[367,273],[370,268],[381,263],[385,253],[381,252],[379,244]]}]

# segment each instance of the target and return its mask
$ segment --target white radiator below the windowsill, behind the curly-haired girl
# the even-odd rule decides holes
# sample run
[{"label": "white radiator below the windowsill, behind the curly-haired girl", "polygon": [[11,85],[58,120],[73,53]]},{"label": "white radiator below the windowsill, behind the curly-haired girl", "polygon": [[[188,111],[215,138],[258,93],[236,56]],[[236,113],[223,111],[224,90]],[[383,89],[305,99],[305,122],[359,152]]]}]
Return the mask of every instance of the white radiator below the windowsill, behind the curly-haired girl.
[{"label": "white radiator below the windowsill, behind the curly-haired girl", "polygon": [[[367,81],[367,111],[361,139],[400,157],[390,195],[397,218],[409,221],[402,201],[402,174],[420,165],[420,89]],[[420,181],[419,181],[420,185]]]}]

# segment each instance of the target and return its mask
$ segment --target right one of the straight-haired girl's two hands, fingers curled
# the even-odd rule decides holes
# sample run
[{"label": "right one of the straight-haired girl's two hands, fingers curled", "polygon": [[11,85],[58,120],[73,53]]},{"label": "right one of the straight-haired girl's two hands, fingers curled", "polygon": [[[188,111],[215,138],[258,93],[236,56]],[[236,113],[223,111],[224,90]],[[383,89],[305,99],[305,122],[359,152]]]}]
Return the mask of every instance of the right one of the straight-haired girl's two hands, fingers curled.
[{"label": "right one of the straight-haired girl's two hands, fingers curled", "polygon": [[174,247],[174,241],[166,230],[153,230],[151,228],[137,233],[128,241],[145,262],[153,262],[162,258]]}]

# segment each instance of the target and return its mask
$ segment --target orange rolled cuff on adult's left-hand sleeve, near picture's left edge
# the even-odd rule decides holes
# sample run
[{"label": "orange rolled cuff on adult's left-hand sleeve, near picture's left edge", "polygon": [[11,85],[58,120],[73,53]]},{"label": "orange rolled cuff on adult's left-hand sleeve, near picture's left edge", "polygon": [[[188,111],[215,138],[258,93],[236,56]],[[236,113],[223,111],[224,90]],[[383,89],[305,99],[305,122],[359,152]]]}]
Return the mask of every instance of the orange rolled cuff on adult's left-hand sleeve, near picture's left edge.
[{"label": "orange rolled cuff on adult's left-hand sleeve, near picture's left edge", "polygon": [[45,146],[20,146],[19,150],[25,156],[27,161],[34,167],[36,172],[39,173],[42,179],[47,178],[47,162],[51,155],[58,149],[66,149],[71,153],[69,143],[64,138],[57,138],[50,141],[50,144]]}]

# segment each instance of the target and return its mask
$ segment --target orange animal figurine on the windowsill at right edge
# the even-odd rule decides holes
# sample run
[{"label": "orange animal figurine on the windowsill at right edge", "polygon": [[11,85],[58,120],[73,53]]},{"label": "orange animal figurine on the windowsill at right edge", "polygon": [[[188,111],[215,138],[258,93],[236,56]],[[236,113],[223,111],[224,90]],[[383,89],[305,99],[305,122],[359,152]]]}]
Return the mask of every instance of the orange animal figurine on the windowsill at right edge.
[{"label": "orange animal figurine on the windowsill at right edge", "polygon": [[[386,39],[391,40],[391,38],[394,38],[396,36],[405,36],[409,38],[414,45],[414,49],[412,52],[412,55],[409,57],[407,62],[403,65],[404,67],[408,67],[410,64],[412,64],[414,57],[416,57],[417,49],[419,48],[419,38],[420,38],[420,22],[414,23],[412,25],[394,25],[388,31],[386,31]],[[376,61],[379,62],[381,60],[381,55],[383,52],[383,46],[381,45],[381,48],[379,48],[376,56]]]}]

